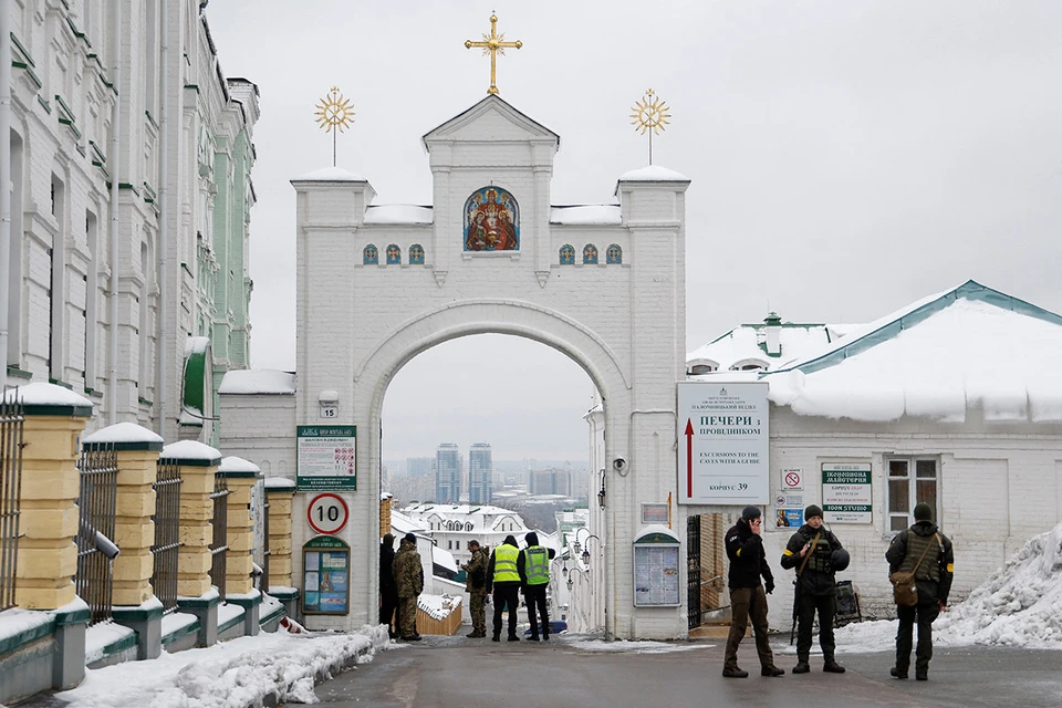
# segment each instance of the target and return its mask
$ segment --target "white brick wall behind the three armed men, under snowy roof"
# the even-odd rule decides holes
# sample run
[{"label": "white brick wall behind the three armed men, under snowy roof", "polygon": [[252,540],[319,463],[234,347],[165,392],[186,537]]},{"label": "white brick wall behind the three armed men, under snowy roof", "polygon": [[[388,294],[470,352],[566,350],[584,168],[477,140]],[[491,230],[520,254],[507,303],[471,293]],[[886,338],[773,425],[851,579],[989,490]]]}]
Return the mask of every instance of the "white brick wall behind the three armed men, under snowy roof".
[{"label": "white brick wall behind the three armed men, under snowy roof", "polygon": [[[886,517],[886,459],[939,459],[937,520],[955,543],[952,598],[961,601],[1032,535],[1062,521],[1062,426],[985,424],[970,412],[962,424],[903,419],[858,424],[798,416],[771,406],[771,499],[781,491],[781,471],[804,473],[804,504],[822,503],[823,464],[868,462],[873,523],[834,523],[852,555],[839,579],[857,586],[864,616],[895,616],[885,550],[892,540]],[[773,518],[774,507],[767,510]],[[779,565],[792,529],[764,534],[768,561],[779,580],[771,626],[788,629],[792,617],[792,571]],[[784,579],[784,580],[781,580]]]}]

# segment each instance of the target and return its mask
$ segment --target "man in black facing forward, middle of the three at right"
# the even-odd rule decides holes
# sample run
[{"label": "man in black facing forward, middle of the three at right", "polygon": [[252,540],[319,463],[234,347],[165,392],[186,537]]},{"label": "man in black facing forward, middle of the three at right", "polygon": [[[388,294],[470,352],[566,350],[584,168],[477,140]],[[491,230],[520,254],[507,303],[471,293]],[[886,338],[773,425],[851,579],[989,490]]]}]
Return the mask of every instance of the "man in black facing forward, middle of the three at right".
[{"label": "man in black facing forward, middle of the three at right", "polygon": [[824,659],[822,670],[844,674],[844,667],[834,659],[833,621],[837,615],[837,581],[833,559],[842,550],[833,532],[822,528],[822,508],[811,504],[804,509],[804,525],[789,539],[782,552],[782,568],[796,571],[796,666],[793,674],[811,670],[811,627],[819,613],[819,646]]}]

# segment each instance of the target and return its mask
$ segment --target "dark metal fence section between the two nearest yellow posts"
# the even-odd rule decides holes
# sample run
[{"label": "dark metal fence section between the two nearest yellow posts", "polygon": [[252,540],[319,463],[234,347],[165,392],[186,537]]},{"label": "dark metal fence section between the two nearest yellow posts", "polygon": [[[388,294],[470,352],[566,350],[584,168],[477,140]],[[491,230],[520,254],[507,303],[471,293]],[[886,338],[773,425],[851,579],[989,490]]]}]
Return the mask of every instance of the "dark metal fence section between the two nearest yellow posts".
[{"label": "dark metal fence section between the two nearest yellow posts", "polygon": [[114,516],[118,491],[118,457],[113,446],[93,446],[77,460],[77,575],[74,586],[88,605],[88,624],[111,618],[111,560],[117,555]]}]

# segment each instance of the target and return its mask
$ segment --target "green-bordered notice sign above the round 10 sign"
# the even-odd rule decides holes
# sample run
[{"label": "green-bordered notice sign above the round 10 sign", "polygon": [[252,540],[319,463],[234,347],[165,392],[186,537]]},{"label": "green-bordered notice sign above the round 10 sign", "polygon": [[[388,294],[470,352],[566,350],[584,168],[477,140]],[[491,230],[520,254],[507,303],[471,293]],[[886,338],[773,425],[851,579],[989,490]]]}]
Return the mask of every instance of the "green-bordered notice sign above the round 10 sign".
[{"label": "green-bordered notice sign above the round 10 sign", "polygon": [[300,425],[296,435],[295,485],[299,491],[357,489],[357,426]]}]

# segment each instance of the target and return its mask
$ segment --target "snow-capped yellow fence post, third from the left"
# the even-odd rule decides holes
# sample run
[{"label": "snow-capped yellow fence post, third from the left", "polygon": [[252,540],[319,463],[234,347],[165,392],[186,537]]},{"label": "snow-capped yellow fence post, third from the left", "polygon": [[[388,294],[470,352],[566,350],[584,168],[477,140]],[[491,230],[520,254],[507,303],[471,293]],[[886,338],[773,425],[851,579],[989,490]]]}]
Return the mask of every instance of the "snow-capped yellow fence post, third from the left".
[{"label": "snow-capped yellow fence post, third from the left", "polygon": [[159,460],[180,468],[180,554],[177,560],[177,606],[199,618],[198,646],[218,641],[221,597],[210,584],[210,544],[214,542],[215,475],[221,452],[195,440],[163,448]]}]

